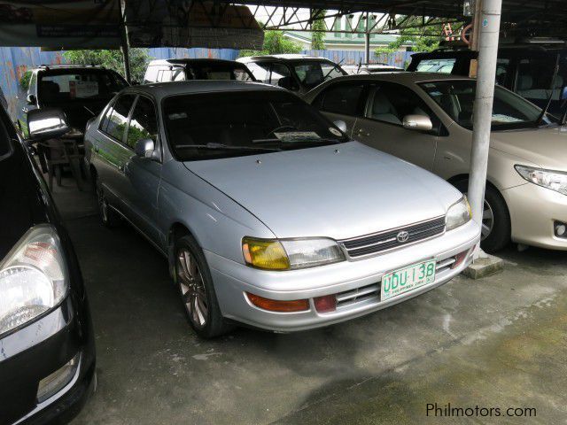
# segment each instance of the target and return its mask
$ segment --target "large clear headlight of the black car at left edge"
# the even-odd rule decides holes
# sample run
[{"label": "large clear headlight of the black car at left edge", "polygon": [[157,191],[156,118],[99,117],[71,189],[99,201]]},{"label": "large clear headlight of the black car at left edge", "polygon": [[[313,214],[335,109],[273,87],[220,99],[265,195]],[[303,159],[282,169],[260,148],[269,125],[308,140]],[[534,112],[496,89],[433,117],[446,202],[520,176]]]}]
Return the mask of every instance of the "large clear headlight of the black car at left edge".
[{"label": "large clear headlight of the black car at left edge", "polygon": [[58,305],[66,297],[66,275],[55,229],[28,230],[0,263],[0,335]]}]

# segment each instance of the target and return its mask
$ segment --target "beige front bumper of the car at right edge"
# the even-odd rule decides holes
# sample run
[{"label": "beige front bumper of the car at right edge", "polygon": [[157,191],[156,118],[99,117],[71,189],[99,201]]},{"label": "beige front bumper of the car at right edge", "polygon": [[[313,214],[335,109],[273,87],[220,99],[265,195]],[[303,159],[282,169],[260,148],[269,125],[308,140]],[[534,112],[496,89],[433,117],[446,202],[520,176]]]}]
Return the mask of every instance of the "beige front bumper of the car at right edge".
[{"label": "beige front bumper of the car at right edge", "polygon": [[537,184],[502,190],[510,213],[512,241],[567,251],[567,238],[555,236],[554,222],[567,223],[567,196]]}]

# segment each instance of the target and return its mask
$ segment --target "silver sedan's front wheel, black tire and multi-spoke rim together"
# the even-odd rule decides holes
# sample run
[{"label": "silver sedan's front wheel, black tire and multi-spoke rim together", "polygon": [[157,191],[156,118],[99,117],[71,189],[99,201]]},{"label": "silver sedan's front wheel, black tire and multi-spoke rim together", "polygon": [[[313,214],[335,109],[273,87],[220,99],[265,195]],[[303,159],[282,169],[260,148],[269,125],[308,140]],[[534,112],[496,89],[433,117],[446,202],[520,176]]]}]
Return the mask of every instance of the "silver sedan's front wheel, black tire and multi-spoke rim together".
[{"label": "silver sedan's front wheel, black tire and multi-spoke rim together", "polygon": [[213,279],[205,255],[189,235],[175,242],[175,283],[191,328],[202,338],[214,338],[228,332],[214,291]]}]

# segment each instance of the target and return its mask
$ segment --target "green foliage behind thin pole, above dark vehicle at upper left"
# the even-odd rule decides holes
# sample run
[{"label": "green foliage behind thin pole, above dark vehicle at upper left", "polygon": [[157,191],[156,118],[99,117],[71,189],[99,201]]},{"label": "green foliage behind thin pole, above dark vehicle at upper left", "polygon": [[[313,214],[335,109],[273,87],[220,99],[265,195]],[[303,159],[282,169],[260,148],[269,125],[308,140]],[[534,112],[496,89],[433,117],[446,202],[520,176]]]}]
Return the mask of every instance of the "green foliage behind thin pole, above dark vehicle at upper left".
[{"label": "green foliage behind thin pole, above dark vehicle at upper left", "polygon": [[[71,64],[100,65],[124,74],[124,62],[120,50],[67,50],[63,57]],[[150,62],[147,49],[129,49],[132,81],[143,81],[145,68]]]}]

